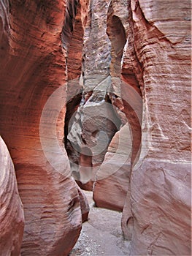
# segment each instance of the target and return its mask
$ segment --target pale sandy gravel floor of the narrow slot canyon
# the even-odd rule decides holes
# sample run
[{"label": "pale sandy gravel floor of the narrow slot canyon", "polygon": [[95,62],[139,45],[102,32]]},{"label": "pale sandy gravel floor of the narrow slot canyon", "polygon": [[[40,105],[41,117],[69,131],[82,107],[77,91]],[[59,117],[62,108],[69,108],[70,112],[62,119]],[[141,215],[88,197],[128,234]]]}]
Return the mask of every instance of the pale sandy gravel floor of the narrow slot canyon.
[{"label": "pale sandy gravel floor of the narrow slot canyon", "polygon": [[85,191],[90,206],[88,222],[82,224],[80,237],[69,256],[123,256],[129,254],[129,241],[123,239],[120,227],[122,213],[98,208],[93,193]]}]

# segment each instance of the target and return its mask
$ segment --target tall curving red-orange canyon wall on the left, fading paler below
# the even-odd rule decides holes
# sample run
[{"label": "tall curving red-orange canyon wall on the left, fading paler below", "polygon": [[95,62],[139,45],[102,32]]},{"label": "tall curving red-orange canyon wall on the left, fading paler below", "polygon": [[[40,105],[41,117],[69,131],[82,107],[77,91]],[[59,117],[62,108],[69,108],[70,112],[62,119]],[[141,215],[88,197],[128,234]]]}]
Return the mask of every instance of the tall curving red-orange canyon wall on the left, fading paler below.
[{"label": "tall curving red-orange canyon wall on the left, fading paler below", "polygon": [[[68,4],[1,1],[0,130],[24,207],[21,255],[68,255],[80,234],[80,197],[86,208],[62,143],[67,70],[61,34]],[[61,94],[50,97],[59,88]]]}]

